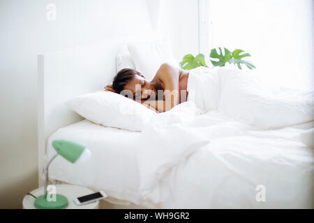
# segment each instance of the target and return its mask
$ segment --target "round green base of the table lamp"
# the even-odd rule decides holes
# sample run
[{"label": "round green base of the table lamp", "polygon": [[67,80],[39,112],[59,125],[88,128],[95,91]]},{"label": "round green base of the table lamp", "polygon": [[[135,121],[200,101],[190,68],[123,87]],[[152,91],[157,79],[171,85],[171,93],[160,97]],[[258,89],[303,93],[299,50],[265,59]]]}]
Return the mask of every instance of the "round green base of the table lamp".
[{"label": "round green base of the table lamp", "polygon": [[56,194],[56,201],[47,201],[45,195],[40,195],[33,206],[38,209],[62,209],[68,206],[68,199],[61,194]]}]

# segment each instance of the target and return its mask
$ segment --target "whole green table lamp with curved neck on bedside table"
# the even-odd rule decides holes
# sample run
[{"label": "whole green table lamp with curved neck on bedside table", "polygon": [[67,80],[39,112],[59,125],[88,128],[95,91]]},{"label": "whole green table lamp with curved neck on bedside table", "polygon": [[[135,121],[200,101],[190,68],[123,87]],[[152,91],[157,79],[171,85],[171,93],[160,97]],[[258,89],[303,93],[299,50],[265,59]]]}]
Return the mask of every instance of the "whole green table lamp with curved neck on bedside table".
[{"label": "whole green table lamp with curved neck on bedside table", "polygon": [[54,155],[49,162],[47,162],[45,167],[44,194],[37,197],[35,203],[33,204],[35,208],[38,209],[60,209],[68,206],[68,199],[61,194],[56,194],[56,201],[47,200],[48,167],[55,157],[61,155],[63,158],[72,163],[77,161],[84,162],[89,160],[91,157],[91,152],[88,148],[74,141],[54,140],[52,141],[52,146],[57,151],[57,154]]}]

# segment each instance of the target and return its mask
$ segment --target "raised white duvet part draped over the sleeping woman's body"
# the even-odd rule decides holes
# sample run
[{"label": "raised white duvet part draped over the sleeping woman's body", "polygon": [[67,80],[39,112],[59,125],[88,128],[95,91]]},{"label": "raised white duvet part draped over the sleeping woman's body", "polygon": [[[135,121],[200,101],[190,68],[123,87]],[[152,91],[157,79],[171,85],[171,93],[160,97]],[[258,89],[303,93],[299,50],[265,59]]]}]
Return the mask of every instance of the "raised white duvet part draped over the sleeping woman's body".
[{"label": "raised white duvet part draped over the sleeping woman's body", "polygon": [[[274,74],[275,75],[275,74]],[[263,84],[254,70],[199,67],[188,77],[188,100],[257,129],[285,128],[314,119],[314,92]]]}]

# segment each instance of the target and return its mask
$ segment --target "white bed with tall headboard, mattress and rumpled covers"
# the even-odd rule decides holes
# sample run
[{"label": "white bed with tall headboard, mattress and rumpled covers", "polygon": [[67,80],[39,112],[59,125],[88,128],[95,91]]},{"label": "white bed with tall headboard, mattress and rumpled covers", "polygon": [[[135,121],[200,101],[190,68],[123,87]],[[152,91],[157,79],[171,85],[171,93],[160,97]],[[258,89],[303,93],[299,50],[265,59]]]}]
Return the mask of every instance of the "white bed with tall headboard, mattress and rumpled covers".
[{"label": "white bed with tall headboard, mattress and rumpled covers", "polygon": [[86,144],[92,158],[69,164],[57,157],[50,180],[104,190],[112,203],[314,207],[314,152],[302,138],[311,138],[313,121],[259,130],[222,112],[200,114],[195,103],[186,102],[133,132],[92,123],[63,105],[110,83],[115,55],[124,44],[117,40],[38,56],[40,184],[43,164],[54,155],[52,140],[68,139]]}]

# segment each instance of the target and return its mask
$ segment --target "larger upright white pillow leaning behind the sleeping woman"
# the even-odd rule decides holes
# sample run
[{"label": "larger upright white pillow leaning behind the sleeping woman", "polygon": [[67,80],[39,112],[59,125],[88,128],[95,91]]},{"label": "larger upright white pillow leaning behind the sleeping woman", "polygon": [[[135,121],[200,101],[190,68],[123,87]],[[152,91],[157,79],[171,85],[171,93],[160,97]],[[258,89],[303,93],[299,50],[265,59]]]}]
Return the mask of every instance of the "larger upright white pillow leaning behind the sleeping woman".
[{"label": "larger upright white pillow leaning behind the sleeping woman", "polygon": [[128,51],[136,70],[149,81],[154,78],[162,63],[170,63],[172,66],[179,67],[178,61],[172,56],[169,40],[128,43]]}]

